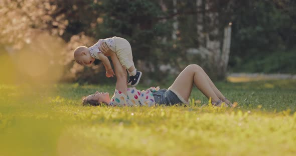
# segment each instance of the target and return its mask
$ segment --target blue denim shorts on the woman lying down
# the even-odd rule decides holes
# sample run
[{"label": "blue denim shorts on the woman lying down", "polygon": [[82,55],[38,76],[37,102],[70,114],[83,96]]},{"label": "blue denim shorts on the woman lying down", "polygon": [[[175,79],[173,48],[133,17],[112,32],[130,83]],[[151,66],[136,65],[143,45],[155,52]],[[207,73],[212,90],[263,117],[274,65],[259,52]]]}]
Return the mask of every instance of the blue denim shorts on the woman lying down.
[{"label": "blue denim shorts on the woman lying down", "polygon": [[160,89],[153,92],[153,97],[155,99],[155,103],[157,104],[173,105],[182,103],[178,96],[169,89]]}]

